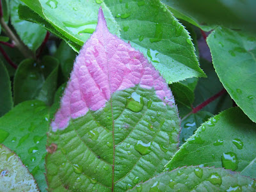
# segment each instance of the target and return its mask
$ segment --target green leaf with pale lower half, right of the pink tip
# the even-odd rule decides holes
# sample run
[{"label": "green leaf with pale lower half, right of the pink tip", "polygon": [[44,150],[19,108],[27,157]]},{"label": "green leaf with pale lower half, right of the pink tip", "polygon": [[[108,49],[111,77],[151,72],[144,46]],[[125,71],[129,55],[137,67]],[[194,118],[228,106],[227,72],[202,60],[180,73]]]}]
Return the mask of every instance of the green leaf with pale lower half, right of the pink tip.
[{"label": "green leaf with pale lower half, right of the pink tip", "polygon": [[105,3],[122,29],[121,38],[148,56],[166,82],[205,77],[188,31],[162,3],[155,0],[122,3],[108,0]]}]

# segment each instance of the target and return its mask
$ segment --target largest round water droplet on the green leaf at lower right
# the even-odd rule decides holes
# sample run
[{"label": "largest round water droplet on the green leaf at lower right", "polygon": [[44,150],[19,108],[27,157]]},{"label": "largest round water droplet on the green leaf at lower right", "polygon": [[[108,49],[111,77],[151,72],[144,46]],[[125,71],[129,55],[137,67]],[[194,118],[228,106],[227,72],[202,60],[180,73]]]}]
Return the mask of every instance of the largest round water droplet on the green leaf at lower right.
[{"label": "largest round water droplet on the green leaf at lower right", "polygon": [[234,152],[223,153],[221,156],[223,168],[235,171],[237,169],[238,159]]}]

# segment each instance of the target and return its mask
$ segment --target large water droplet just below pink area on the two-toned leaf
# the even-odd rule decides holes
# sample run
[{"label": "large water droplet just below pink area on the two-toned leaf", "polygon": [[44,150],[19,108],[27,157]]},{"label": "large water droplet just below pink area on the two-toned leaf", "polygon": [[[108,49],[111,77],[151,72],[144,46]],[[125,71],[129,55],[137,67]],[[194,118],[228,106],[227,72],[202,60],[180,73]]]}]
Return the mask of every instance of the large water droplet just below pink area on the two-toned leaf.
[{"label": "large water droplet just below pink area on the two-toned leaf", "polygon": [[138,93],[133,92],[131,99],[127,99],[125,108],[130,109],[133,112],[140,112],[143,109],[144,101]]}]

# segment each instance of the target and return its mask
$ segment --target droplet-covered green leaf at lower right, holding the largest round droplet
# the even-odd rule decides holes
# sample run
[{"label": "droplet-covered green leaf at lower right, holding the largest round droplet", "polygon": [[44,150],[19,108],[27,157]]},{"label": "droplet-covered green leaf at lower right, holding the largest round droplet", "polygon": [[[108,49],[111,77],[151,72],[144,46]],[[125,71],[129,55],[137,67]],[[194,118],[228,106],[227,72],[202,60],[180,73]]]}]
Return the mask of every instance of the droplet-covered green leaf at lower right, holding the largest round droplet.
[{"label": "droplet-covered green leaf at lower right, holding the largest round droplet", "polygon": [[255,137],[256,124],[241,109],[228,109],[199,127],[166,168],[203,164],[241,172],[255,159]]}]

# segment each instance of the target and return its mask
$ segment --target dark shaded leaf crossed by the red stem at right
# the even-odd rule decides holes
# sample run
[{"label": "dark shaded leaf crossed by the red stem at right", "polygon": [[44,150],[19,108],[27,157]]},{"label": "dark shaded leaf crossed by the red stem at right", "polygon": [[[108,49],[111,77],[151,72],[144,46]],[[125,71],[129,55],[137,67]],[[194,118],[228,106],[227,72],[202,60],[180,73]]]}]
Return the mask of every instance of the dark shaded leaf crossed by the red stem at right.
[{"label": "dark shaded leaf crossed by the red stem at right", "polygon": [[[203,58],[200,58],[200,67],[203,68],[207,78],[200,78],[195,88],[195,102],[194,107],[198,106],[205,100],[216,95],[216,93],[223,90],[223,85],[220,83],[212,63]],[[232,107],[232,99],[227,93],[224,93],[210,104],[203,108],[204,111],[209,111],[210,113],[216,115],[221,111]]]}]

